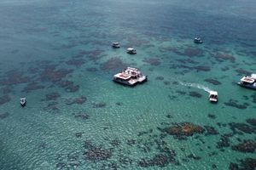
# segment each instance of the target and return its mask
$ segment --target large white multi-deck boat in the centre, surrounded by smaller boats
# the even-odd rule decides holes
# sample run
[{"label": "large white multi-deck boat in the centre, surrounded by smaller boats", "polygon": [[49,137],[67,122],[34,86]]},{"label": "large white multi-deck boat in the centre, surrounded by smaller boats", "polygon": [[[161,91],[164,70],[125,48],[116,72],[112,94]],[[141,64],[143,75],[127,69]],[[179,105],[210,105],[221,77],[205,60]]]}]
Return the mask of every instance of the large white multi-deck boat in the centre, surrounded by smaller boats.
[{"label": "large white multi-deck boat in the centre, surrounded by smaller boats", "polygon": [[113,76],[114,82],[134,86],[137,83],[146,82],[148,77],[143,75],[137,68],[127,67],[125,70]]}]

